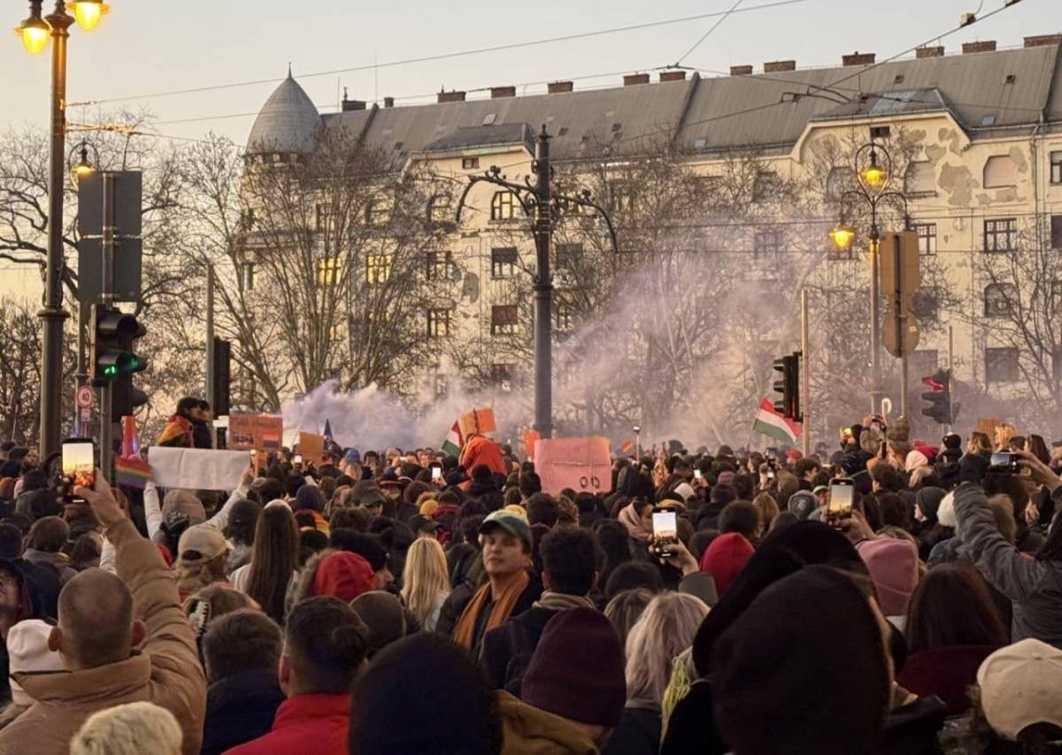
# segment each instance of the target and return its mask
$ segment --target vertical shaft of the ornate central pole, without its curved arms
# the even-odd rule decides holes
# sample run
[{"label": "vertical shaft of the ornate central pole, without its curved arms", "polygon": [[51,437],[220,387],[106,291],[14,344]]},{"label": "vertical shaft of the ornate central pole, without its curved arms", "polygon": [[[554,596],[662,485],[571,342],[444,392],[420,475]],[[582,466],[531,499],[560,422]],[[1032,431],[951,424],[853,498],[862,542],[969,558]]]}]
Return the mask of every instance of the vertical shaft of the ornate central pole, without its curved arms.
[{"label": "vertical shaft of the ornate central pole, without its curved arms", "polygon": [[534,428],[542,437],[553,435],[553,279],[549,244],[553,233],[549,168],[549,139],[545,124],[535,145],[535,278],[534,278]]}]

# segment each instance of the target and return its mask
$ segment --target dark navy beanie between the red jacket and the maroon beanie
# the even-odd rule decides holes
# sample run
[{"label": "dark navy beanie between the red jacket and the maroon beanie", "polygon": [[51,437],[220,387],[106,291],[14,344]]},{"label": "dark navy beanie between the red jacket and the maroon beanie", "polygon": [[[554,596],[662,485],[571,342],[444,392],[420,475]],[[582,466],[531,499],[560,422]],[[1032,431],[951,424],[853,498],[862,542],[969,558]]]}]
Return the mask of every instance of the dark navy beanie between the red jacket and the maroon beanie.
[{"label": "dark navy beanie between the red jacket and the maroon beanie", "polygon": [[483,670],[443,635],[419,632],[388,646],[354,686],[350,752],[497,755],[501,742]]}]

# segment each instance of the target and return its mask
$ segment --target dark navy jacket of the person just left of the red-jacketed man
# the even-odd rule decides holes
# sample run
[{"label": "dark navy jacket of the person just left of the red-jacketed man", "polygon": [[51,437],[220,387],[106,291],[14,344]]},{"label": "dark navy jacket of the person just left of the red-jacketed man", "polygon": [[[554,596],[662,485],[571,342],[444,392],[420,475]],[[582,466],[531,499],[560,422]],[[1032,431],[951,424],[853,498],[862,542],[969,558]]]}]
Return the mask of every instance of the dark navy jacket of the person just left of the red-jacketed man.
[{"label": "dark navy jacket of the person just left of the red-jacketed man", "polygon": [[269,734],[282,702],[275,670],[252,669],[215,682],[206,691],[203,755],[220,755]]}]

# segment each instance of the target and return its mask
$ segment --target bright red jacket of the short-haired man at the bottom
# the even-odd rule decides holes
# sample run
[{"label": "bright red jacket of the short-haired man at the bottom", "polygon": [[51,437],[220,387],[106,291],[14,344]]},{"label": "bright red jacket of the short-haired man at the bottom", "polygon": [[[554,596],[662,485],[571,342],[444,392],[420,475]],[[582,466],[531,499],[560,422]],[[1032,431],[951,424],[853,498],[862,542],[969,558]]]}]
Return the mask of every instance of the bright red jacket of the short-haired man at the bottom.
[{"label": "bright red jacket of the short-haired man at the bottom", "polygon": [[269,734],[225,755],[346,755],[349,694],[296,694],[276,709]]}]

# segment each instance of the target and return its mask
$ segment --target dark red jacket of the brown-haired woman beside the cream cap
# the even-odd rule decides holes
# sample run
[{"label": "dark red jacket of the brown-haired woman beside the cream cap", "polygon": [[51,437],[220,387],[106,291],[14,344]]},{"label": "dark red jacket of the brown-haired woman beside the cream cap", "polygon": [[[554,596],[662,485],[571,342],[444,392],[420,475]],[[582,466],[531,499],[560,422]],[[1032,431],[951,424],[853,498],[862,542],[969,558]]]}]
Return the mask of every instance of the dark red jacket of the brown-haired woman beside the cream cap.
[{"label": "dark red jacket of the brown-haired woman beside the cream cap", "polygon": [[924,650],[908,656],[896,683],[919,697],[936,694],[947,705],[948,716],[959,716],[971,706],[966,690],[977,684],[977,669],[995,650],[988,645]]}]

